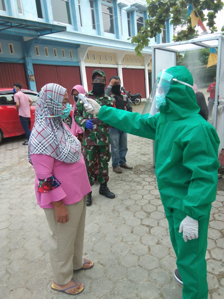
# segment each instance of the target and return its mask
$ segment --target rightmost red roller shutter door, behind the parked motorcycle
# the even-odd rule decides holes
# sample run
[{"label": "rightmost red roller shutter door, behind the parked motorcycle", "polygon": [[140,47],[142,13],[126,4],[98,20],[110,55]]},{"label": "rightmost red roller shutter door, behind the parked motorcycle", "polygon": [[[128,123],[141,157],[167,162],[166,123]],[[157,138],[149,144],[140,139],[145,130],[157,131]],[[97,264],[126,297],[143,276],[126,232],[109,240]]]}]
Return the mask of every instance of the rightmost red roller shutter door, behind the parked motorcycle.
[{"label": "rightmost red roller shutter door, behind the parked motorcycle", "polygon": [[123,85],[125,90],[131,94],[141,93],[142,98],[145,94],[145,70],[137,68],[122,68]]}]

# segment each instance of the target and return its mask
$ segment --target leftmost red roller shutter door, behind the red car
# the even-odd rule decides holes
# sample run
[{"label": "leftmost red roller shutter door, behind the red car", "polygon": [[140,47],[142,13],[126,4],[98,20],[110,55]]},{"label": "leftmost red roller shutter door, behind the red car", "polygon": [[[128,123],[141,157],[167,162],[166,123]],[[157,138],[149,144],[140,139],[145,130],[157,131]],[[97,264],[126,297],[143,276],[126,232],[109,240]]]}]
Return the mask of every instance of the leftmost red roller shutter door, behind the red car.
[{"label": "leftmost red roller shutter door, behind the red car", "polygon": [[1,88],[13,87],[13,83],[19,82],[22,88],[27,87],[26,71],[23,63],[0,63]]}]

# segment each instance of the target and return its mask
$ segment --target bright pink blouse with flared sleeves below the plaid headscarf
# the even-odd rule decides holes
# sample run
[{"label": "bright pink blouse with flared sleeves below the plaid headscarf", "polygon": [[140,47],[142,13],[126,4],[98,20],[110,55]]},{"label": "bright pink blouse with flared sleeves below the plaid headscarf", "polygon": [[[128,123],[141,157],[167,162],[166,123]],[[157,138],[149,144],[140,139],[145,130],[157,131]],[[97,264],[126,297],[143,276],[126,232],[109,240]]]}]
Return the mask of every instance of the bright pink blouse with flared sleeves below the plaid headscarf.
[{"label": "bright pink blouse with flared sleeves below the plaid headscarf", "polygon": [[[44,154],[31,155],[36,173],[35,192],[37,203],[41,208],[53,208],[51,202],[62,199],[65,205],[79,202],[91,191],[84,158],[76,163],[65,163]],[[54,176],[61,184],[53,190],[39,193],[38,179]]]}]

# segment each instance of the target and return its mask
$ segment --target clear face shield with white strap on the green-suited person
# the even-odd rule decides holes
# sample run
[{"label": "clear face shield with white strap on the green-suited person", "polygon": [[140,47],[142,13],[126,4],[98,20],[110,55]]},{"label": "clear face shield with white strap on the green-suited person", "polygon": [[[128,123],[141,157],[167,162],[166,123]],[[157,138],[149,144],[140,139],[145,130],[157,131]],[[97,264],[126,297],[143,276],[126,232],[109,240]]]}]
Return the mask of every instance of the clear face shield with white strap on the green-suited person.
[{"label": "clear face shield with white strap on the green-suited person", "polygon": [[150,118],[159,112],[160,106],[166,105],[166,95],[170,90],[170,86],[173,81],[187,85],[193,89],[193,86],[175,79],[172,74],[167,73],[165,70],[160,71],[150,96],[145,104],[145,108],[142,111],[142,115],[149,114],[148,117]]}]

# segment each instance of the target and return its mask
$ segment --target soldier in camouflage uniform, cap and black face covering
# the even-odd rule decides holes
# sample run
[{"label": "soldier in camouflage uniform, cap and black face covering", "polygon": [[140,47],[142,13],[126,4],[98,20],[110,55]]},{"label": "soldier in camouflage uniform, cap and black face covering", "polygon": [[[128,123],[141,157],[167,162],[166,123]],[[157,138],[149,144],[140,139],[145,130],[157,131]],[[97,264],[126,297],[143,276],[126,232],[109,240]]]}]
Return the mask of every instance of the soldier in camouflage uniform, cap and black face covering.
[{"label": "soldier in camouflage uniform, cap and black face covering", "polygon": [[[92,74],[93,89],[86,94],[86,97],[95,100],[100,106],[113,106],[113,99],[105,94],[106,77],[104,71],[94,70]],[[85,111],[83,104],[78,100],[74,110],[74,120],[83,132],[83,156],[88,173],[90,185],[94,184],[94,164],[99,161],[99,173],[97,181],[100,183],[99,193],[108,198],[114,198],[108,187],[108,162],[111,158],[110,152],[110,131],[109,125],[103,123],[97,115]],[[92,191],[87,195],[86,205],[92,204]]]}]

